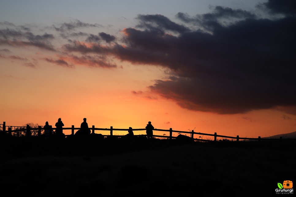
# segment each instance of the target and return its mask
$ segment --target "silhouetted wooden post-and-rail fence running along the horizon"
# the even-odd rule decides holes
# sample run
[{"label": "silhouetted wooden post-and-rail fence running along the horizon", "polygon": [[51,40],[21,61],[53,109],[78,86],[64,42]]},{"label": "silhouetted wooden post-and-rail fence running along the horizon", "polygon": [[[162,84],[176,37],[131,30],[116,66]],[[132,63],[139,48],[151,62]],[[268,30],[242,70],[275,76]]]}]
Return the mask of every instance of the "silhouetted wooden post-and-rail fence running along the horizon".
[{"label": "silhouetted wooden post-and-rail fence running along the horizon", "polygon": [[[12,132],[25,132],[25,136],[31,136],[32,132],[37,133],[37,136],[41,136],[41,131],[44,130],[41,126],[39,126],[38,128],[31,128],[29,125],[27,125],[26,127],[23,126],[6,126],[6,122],[3,122],[3,124],[0,124],[0,128],[2,128],[2,132],[8,133],[9,135],[11,135]],[[7,129],[6,129],[7,128]],[[12,130],[12,128],[14,128],[14,130]],[[17,129],[15,129],[17,128]],[[55,130],[56,128],[50,128],[50,130]],[[66,135],[66,136],[72,136],[74,135],[74,131],[75,130],[79,130],[80,128],[75,128],[74,125],[72,125],[72,127],[66,127],[63,128],[63,130],[71,130],[71,134],[70,135]],[[128,131],[129,129],[124,129],[124,128],[113,128],[112,126],[110,128],[95,128],[95,126],[93,125],[91,128],[89,128],[92,133],[95,133],[95,131],[110,131],[110,135],[103,135],[103,136],[114,136],[113,135],[113,131]],[[132,129],[133,131],[146,131],[146,128],[136,128],[136,129]],[[234,141],[239,141],[239,140],[283,140],[282,137],[280,137],[279,139],[275,139],[275,138],[261,138],[260,136],[258,136],[258,138],[246,138],[246,137],[232,137],[232,136],[222,136],[222,135],[217,135],[217,133],[215,132],[214,134],[208,134],[208,133],[199,133],[199,132],[194,132],[194,130],[188,132],[188,131],[175,131],[172,128],[170,129],[153,129],[154,131],[164,131],[164,132],[169,132],[169,136],[167,135],[163,135],[163,136],[159,136],[159,135],[153,135],[154,137],[158,137],[158,138],[169,138],[169,139],[173,139],[176,138],[176,136],[173,136],[173,132],[178,133],[178,134],[190,134],[190,137],[192,138],[192,140],[197,140],[197,141],[217,141],[217,137],[220,138],[224,138],[224,139],[231,139]],[[146,132],[145,132],[146,133]],[[210,140],[210,139],[200,139],[199,138],[194,138],[194,135],[199,135],[199,136],[213,136],[214,139]],[[135,136],[141,136],[141,135],[135,135]],[[123,135],[116,135],[115,137],[123,137]],[[293,139],[295,140],[295,139]]]}]

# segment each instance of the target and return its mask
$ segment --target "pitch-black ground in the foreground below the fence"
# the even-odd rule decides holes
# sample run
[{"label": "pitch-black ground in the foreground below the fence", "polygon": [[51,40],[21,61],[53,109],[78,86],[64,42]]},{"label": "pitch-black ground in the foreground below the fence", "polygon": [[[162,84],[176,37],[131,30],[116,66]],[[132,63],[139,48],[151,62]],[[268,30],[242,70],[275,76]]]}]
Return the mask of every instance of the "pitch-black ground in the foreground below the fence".
[{"label": "pitch-black ground in the foreground below the fence", "polygon": [[283,196],[277,183],[296,182],[290,141],[0,142],[1,196]]}]

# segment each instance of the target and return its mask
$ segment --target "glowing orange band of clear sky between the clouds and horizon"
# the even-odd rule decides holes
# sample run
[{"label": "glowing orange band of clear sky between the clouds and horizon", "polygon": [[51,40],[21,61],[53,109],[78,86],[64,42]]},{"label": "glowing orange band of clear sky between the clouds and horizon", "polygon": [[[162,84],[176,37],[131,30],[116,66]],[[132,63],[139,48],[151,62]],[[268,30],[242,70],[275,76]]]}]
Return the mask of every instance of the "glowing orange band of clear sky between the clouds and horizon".
[{"label": "glowing orange band of clear sky between the clouds and horizon", "polygon": [[[64,56],[60,58],[73,61]],[[61,117],[65,127],[79,127],[86,117],[89,126],[96,128],[145,128],[151,121],[158,129],[195,128],[195,132],[234,137],[265,137],[296,130],[296,116],[286,114],[289,118],[284,118],[284,113],[277,110],[217,115],[183,109],[147,89],[155,79],[166,80],[169,75],[157,66],[114,60],[122,69],[104,69],[80,66],[73,61],[76,65],[70,69],[43,61],[37,65],[38,69],[33,69],[18,61],[3,58],[1,61],[0,73],[5,74],[0,78],[4,93],[0,98],[0,122],[5,121],[6,125],[22,126],[29,122],[44,125],[46,121],[55,125]],[[70,130],[65,133],[70,134]],[[113,132],[114,135],[126,133]],[[145,131],[135,134],[145,134]],[[168,132],[155,134],[169,135]]]}]

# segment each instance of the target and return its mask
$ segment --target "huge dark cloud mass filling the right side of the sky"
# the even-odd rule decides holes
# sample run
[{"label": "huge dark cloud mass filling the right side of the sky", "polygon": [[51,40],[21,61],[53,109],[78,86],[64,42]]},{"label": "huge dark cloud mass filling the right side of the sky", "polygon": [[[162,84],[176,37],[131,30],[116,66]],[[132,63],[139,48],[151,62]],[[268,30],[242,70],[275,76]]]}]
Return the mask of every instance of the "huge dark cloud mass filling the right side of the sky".
[{"label": "huge dark cloud mass filling the right side of the sky", "polygon": [[[241,20],[225,25],[218,20],[222,17]],[[294,17],[257,19],[243,10],[216,7],[199,17],[199,24],[212,24],[211,32],[179,31],[178,36],[163,32],[163,21],[173,24],[167,18],[138,19],[144,29],[125,29],[126,46],[115,46],[113,54],[169,68],[172,77],[149,87],[158,95],[189,110],[219,114],[296,106]]]}]

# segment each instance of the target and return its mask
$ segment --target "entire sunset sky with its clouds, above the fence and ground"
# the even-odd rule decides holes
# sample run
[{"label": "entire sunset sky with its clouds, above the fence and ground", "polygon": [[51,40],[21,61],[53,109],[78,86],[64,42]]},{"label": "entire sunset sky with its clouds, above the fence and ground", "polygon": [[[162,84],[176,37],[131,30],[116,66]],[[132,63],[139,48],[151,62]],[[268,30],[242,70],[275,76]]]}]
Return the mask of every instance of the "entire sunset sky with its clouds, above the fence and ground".
[{"label": "entire sunset sky with its clouds, above the fence and ground", "polygon": [[295,4],[0,0],[0,122],[294,132]]}]

